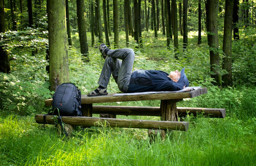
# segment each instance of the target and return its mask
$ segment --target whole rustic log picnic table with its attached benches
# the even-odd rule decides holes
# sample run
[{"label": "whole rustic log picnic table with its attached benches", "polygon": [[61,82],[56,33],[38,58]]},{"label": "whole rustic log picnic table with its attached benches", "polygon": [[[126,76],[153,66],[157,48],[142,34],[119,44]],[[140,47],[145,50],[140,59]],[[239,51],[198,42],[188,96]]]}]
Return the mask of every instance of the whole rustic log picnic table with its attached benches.
[{"label": "whole rustic log picnic table with its attached benches", "polygon": [[[88,97],[82,95],[83,116],[62,116],[62,121],[75,126],[97,126],[104,123],[111,127],[128,127],[143,129],[172,129],[187,131],[188,122],[178,121],[178,117],[187,114],[197,116],[198,113],[209,117],[225,117],[225,109],[209,108],[184,108],[177,107],[176,103],[184,98],[193,98],[201,94],[206,94],[207,88],[200,88],[192,92],[161,93],[161,94],[139,94],[128,96],[105,96]],[[95,103],[107,102],[129,102],[143,100],[161,100],[160,107],[134,107],[134,106],[93,106]],[[45,100],[46,106],[51,106],[52,99]],[[92,114],[100,114],[100,118],[91,117]],[[107,115],[107,116],[106,116]],[[135,120],[135,119],[115,119],[116,115],[140,115],[140,116],[160,116],[161,121]],[[106,118],[112,117],[112,118]],[[36,122],[39,124],[54,124],[53,116],[36,115]],[[154,130],[149,130],[155,132]],[[162,132],[162,131],[161,131]]]}]

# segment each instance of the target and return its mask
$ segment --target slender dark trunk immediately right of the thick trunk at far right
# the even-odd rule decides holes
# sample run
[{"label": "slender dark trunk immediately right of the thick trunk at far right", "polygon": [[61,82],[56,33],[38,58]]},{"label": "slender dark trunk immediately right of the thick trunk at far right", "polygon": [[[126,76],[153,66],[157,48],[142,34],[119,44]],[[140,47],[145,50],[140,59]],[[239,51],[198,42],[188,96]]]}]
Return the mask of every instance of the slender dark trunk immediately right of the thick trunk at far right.
[{"label": "slender dark trunk immediately right of the thick trunk at far right", "polygon": [[238,30],[238,13],[239,13],[239,0],[234,0],[233,8],[233,38],[234,40],[239,40],[239,30]]}]

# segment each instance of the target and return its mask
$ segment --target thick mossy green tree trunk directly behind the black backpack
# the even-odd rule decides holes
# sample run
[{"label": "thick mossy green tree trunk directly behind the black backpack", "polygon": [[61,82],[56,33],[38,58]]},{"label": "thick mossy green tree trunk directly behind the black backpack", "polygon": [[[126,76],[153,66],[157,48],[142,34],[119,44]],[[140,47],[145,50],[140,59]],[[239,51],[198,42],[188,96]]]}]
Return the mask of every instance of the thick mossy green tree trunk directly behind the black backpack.
[{"label": "thick mossy green tree trunk directly behind the black backpack", "polygon": [[50,90],[69,82],[65,0],[47,0]]}]

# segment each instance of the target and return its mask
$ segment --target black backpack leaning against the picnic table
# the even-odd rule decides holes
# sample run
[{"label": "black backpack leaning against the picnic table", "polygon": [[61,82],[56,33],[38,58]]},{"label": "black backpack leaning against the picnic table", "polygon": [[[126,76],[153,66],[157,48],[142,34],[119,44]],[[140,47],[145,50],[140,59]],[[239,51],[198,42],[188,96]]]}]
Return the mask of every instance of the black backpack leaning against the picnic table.
[{"label": "black backpack leaning against the picnic table", "polygon": [[53,115],[82,116],[81,91],[74,84],[59,85],[52,100]]}]

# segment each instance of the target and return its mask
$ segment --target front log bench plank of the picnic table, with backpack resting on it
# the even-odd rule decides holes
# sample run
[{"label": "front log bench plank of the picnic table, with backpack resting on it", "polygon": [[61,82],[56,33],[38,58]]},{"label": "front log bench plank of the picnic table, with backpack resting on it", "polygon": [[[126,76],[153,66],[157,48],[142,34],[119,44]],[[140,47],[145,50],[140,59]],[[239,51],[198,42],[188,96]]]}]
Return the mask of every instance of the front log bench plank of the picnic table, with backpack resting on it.
[{"label": "front log bench plank of the picnic table, with backpack resting on it", "polygon": [[[36,122],[38,124],[54,124],[54,116],[36,115]],[[86,116],[62,116],[62,121],[66,124],[74,126],[102,126],[106,124],[110,127],[126,127],[138,129],[172,129],[187,131],[188,122],[185,121],[149,121],[136,119],[113,119],[113,118],[95,118]]]}]

